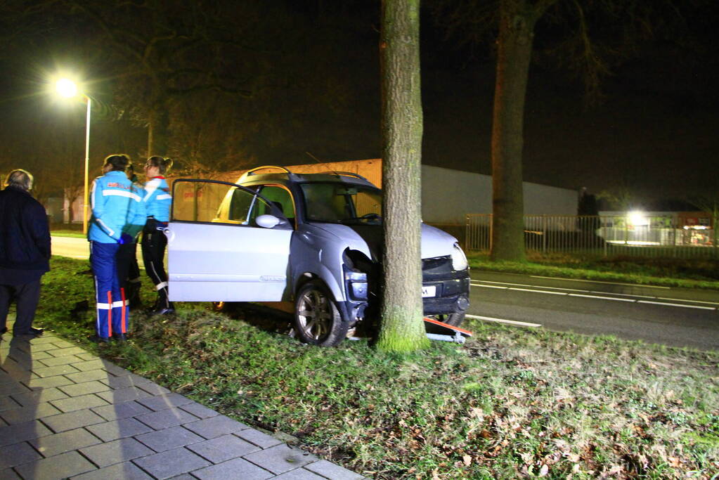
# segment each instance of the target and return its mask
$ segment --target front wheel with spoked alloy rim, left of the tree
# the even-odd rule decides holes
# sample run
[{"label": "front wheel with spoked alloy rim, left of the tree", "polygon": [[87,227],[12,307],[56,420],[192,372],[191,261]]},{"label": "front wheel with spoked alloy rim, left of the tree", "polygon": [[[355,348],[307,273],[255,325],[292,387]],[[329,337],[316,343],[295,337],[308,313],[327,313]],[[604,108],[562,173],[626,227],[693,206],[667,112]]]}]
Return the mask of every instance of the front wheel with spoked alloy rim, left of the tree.
[{"label": "front wheel with spoked alloy rim, left of the tree", "polygon": [[323,282],[310,280],[299,288],[294,320],[297,338],[312,345],[336,346],[347,336],[348,328]]}]

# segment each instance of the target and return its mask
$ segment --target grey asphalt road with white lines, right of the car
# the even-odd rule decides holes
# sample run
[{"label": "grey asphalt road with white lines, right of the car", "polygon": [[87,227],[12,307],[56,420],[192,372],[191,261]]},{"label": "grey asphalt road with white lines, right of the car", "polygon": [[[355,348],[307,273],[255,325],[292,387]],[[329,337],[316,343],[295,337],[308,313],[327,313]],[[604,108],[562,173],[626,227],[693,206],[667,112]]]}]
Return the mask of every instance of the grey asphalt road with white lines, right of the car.
[{"label": "grey asphalt road with white lines, right of the car", "polygon": [[719,349],[719,292],[472,272],[470,315],[554,331]]}]

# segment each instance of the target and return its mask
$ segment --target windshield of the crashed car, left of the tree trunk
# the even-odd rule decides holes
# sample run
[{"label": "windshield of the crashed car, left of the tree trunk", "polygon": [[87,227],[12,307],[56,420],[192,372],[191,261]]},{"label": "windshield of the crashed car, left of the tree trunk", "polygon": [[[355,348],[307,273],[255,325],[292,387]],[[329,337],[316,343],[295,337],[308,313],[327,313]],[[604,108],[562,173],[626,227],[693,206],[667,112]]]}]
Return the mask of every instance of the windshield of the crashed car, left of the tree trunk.
[{"label": "windshield of the crashed car, left of the tree trunk", "polygon": [[306,218],[331,223],[381,223],[382,191],[347,183],[303,183]]}]

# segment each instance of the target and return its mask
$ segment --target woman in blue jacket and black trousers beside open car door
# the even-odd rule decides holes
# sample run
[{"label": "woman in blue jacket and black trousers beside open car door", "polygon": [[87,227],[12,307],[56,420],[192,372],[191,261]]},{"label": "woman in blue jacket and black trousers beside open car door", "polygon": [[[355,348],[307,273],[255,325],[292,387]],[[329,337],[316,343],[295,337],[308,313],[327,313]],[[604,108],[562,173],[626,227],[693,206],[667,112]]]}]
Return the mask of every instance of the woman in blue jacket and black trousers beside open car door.
[{"label": "woman in blue jacket and black trousers beside open car door", "polygon": [[165,173],[172,165],[173,161],[169,158],[158,156],[148,158],[145,164],[147,183],[144,201],[147,221],[142,229],[142,262],[157,290],[157,301],[152,308],[152,313],[157,315],[175,311],[173,303],[170,302],[168,274],[164,265],[165,246],[168,244],[165,229],[170,221],[170,206],[173,203]]}]

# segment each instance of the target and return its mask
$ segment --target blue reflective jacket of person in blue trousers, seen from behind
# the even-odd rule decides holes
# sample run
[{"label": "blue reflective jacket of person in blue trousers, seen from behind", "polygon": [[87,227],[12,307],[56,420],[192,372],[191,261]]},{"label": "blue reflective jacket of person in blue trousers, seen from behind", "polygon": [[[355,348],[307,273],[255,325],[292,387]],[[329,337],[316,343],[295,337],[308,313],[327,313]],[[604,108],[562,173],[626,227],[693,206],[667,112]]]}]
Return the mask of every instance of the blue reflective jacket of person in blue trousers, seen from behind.
[{"label": "blue reflective jacket of person in blue trousers, seen from behind", "polygon": [[142,191],[132,185],[125,172],[113,170],[97,177],[90,192],[92,218],[88,240],[114,244],[122,234],[134,238],[145,225]]}]

